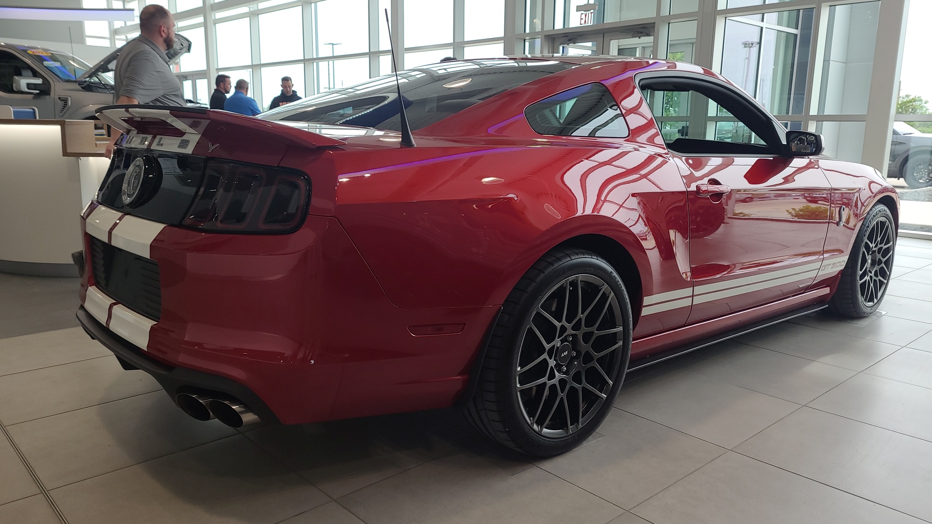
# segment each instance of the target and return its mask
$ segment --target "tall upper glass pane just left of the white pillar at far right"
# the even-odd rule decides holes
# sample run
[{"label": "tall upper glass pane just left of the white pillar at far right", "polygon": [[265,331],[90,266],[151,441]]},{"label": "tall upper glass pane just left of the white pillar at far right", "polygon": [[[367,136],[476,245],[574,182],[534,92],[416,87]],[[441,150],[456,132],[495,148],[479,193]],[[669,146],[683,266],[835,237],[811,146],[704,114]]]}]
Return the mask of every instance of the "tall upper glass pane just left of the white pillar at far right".
[{"label": "tall upper glass pane just left of the white pillar at far right", "polygon": [[816,113],[863,115],[868,112],[870,73],[880,2],[829,7],[828,34]]}]

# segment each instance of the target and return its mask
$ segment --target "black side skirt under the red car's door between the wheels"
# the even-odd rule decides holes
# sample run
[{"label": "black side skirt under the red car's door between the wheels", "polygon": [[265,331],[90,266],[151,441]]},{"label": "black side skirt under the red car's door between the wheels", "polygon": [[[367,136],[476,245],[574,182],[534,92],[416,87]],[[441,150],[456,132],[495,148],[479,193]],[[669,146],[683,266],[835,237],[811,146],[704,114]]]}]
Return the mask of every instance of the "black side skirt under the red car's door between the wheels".
[{"label": "black side skirt under the red car's door between the wheels", "polygon": [[[815,291],[810,291],[808,293],[804,293],[801,297],[809,298],[809,297],[823,296],[823,295],[828,294],[828,292],[829,292],[828,288],[823,288],[820,290],[815,290]],[[717,344],[724,340],[728,340],[729,338],[740,337],[742,335],[745,335],[752,331],[757,331],[758,329],[762,329],[769,325],[780,324],[781,322],[786,322],[790,319],[801,317],[802,315],[807,315],[809,313],[812,313],[818,310],[824,310],[828,307],[829,307],[829,304],[825,302],[819,303],[819,304],[811,304],[811,305],[803,306],[802,308],[785,311],[775,316],[764,318],[763,320],[760,320],[752,324],[741,325],[733,329],[718,333],[716,335],[712,335],[706,338],[699,338],[697,340],[693,340],[691,342],[688,342],[686,344],[683,344],[681,346],[678,346],[676,348],[673,348],[667,351],[653,353],[651,355],[638,358],[637,360],[632,360],[631,363],[628,365],[628,371],[630,372],[636,369],[640,369],[642,367],[647,367],[648,365],[654,365],[660,362],[664,362],[665,360],[669,360],[671,358],[677,357],[682,354],[694,352],[696,350],[701,350],[702,348],[706,348],[707,346],[711,346],[712,344]],[[764,306],[761,309],[765,310],[766,308],[767,306]],[[742,311],[740,313],[735,313],[734,315],[744,316],[748,313],[753,314],[755,312],[757,311],[749,310],[749,311]],[[731,324],[729,321],[733,322],[734,315],[729,315],[726,317],[722,317],[720,319],[706,321],[701,324],[687,325],[687,326],[675,329],[673,331],[667,331],[663,335],[665,337],[672,336],[675,338],[678,332],[681,332],[682,335],[687,336],[689,331],[692,331],[692,329],[695,329],[696,327],[698,327],[698,325],[703,325],[705,327],[704,329],[705,331],[714,330],[715,324],[726,324],[726,323]],[[649,337],[649,338],[652,338],[652,337]],[[643,338],[641,340],[635,340],[635,346],[637,346],[637,342],[644,343],[645,341],[646,340]]]}]

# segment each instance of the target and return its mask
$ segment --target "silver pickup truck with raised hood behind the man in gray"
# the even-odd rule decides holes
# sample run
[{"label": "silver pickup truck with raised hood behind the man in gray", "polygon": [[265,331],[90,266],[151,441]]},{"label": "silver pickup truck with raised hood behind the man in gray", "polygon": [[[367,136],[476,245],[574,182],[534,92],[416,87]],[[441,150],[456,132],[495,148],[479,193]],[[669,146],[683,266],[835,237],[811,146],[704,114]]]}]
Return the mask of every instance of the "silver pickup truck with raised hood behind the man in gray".
[{"label": "silver pickup truck with raised hood behind the man in gray", "polygon": [[[0,105],[34,107],[38,118],[96,118],[97,109],[114,103],[112,72],[121,49],[89,65],[71,53],[0,42]],[[177,34],[166,55],[174,63],[190,50],[191,41]]]}]

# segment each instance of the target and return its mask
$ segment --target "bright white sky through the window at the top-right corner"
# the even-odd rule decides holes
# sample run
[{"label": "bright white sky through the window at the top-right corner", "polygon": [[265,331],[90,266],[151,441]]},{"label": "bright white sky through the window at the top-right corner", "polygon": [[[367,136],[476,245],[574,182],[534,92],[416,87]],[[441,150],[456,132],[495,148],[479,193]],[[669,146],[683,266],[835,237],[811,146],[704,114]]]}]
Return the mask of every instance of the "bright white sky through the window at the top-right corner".
[{"label": "bright white sky through the window at the top-right corner", "polygon": [[932,109],[932,0],[912,0],[906,28],[906,47],[899,74],[901,94],[919,95]]}]

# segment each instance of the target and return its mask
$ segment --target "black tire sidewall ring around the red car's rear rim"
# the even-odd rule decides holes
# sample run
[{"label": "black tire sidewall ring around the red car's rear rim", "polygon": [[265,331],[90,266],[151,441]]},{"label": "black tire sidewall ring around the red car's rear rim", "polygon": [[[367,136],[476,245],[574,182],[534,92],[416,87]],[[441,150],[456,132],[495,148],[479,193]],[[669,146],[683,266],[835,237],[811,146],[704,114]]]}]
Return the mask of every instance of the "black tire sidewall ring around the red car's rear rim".
[{"label": "black tire sidewall ring around the red car's rear rim", "polygon": [[[516,369],[517,366],[518,345],[523,338],[525,326],[528,325],[541,297],[549,294],[555,284],[561,283],[579,274],[589,274],[598,277],[602,282],[610,286],[618,300],[619,309],[622,311],[622,321],[624,323],[624,344],[622,348],[616,350],[622,352],[621,361],[615,373],[615,377],[613,378],[611,390],[605,402],[598,408],[596,415],[576,433],[558,439],[549,439],[535,433],[528,426],[528,423],[524,420],[524,415],[521,413],[517,388],[514,382],[514,369]],[[505,355],[503,356],[506,364],[499,370],[499,376],[497,378],[497,385],[500,388],[499,391],[502,392],[503,395],[507,395],[506,402],[502,403],[502,415],[509,428],[511,437],[515,444],[518,445],[518,448],[526,449],[534,455],[552,456],[575,448],[596,431],[596,428],[598,428],[602,421],[609,415],[614,399],[618,395],[618,391],[621,389],[622,382],[624,381],[624,374],[627,370],[628,360],[631,355],[631,316],[631,305],[624,288],[624,283],[622,283],[621,278],[619,278],[618,274],[607,262],[595,255],[574,256],[567,261],[559,263],[555,267],[549,269],[540,280],[531,285],[523,303],[514,310],[514,323],[507,328],[508,333],[505,337],[505,347],[502,348],[505,350]]]}]

